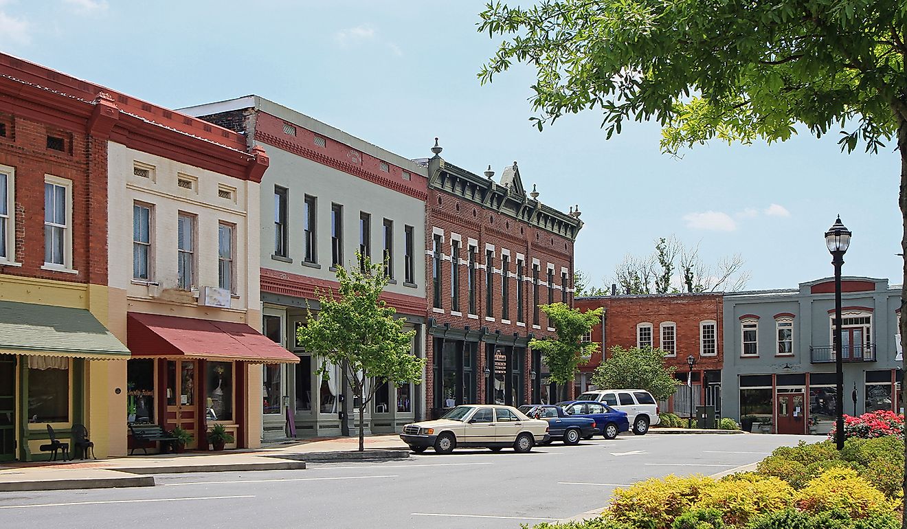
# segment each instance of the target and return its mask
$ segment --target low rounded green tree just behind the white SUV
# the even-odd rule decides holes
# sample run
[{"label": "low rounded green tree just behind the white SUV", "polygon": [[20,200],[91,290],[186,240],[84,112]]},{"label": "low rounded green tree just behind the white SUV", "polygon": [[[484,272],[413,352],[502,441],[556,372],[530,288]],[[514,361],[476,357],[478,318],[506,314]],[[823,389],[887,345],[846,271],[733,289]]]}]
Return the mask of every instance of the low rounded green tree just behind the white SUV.
[{"label": "low rounded green tree just behind the white SUV", "polygon": [[680,386],[674,378],[676,367],[665,367],[661,349],[614,346],[610,353],[592,374],[592,384],[597,387],[646,389],[656,400],[665,400]]}]

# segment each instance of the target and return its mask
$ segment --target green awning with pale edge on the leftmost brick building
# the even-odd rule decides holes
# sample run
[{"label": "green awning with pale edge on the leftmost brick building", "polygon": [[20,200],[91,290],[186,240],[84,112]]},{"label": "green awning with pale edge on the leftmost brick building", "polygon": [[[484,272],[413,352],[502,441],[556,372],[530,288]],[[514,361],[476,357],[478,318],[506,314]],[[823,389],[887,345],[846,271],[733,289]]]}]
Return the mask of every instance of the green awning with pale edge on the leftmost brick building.
[{"label": "green awning with pale edge on the leftmost brick building", "polygon": [[117,359],[130,352],[85,309],[0,301],[0,353]]}]

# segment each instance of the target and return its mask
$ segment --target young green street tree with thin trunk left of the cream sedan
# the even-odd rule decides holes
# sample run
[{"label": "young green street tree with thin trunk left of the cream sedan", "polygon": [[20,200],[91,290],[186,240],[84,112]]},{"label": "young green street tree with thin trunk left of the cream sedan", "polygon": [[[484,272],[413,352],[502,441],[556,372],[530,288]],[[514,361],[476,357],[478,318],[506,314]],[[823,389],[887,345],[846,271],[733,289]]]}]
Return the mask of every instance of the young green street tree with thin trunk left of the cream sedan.
[{"label": "young green street tree with thin trunk left of the cream sedan", "polygon": [[387,285],[385,266],[367,257],[365,264],[365,271],[338,266],[337,295],[319,290],[317,318],[309,311],[307,324],[297,328],[299,343],[319,355],[318,373],[328,377],[328,364],[339,366],[358,397],[360,452],[365,450],[363,416],[377,388],[385,382],[419,384],[425,366],[410,352],[415,331],[405,331],[405,319],[395,318],[396,310],[380,299]]}]

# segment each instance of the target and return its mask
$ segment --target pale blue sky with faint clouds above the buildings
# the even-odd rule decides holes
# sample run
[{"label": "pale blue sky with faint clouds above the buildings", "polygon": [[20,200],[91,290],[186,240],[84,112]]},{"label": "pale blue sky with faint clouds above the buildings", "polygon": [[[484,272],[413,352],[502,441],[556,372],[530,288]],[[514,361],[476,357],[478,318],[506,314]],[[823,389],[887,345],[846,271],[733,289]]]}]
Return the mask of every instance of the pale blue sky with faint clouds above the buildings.
[{"label": "pale blue sky with faint clouds above the buildings", "polygon": [[839,152],[836,134],[771,146],[713,143],[672,158],[632,123],[610,141],[595,112],[530,126],[532,71],[481,86],[500,39],[476,0],[328,2],[0,0],[0,49],[173,108],[258,93],[408,158],[501,174],[562,211],[580,205],[576,260],[610,281],[627,253],[674,234],[716,261],[739,253],[749,289],[831,275],[823,233],[853,230],[844,273],[902,282],[900,160]]}]

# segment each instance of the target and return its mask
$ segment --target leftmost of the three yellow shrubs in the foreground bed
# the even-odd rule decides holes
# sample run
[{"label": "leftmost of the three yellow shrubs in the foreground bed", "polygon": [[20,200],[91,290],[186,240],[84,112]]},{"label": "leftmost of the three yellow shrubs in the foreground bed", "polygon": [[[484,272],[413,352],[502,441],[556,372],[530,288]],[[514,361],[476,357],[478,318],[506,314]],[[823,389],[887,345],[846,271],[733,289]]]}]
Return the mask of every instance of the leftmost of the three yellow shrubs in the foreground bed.
[{"label": "leftmost of the three yellow shrubs in the foreground bed", "polygon": [[670,527],[713,486],[714,479],[701,475],[647,479],[629,488],[615,489],[606,514],[640,529]]}]

